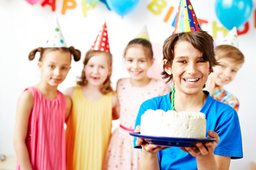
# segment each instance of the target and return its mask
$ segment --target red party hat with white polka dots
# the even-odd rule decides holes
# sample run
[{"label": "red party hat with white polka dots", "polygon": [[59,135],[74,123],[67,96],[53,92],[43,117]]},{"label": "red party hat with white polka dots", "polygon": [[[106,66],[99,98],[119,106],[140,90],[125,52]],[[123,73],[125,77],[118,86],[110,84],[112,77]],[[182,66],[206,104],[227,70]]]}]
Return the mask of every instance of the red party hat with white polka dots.
[{"label": "red party hat with white polka dots", "polygon": [[97,35],[97,38],[94,41],[91,49],[110,53],[107,29],[106,29],[106,22],[104,23],[102,29],[99,31],[99,34]]}]

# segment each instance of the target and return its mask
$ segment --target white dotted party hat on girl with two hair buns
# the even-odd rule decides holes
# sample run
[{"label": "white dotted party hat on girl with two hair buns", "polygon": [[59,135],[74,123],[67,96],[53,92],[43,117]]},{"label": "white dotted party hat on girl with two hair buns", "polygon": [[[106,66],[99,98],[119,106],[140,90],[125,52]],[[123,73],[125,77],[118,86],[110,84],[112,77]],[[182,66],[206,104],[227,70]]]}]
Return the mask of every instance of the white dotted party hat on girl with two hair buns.
[{"label": "white dotted party hat on girl with two hair buns", "polygon": [[44,47],[67,47],[64,37],[61,33],[57,16],[54,15],[51,28],[49,29],[48,39]]}]

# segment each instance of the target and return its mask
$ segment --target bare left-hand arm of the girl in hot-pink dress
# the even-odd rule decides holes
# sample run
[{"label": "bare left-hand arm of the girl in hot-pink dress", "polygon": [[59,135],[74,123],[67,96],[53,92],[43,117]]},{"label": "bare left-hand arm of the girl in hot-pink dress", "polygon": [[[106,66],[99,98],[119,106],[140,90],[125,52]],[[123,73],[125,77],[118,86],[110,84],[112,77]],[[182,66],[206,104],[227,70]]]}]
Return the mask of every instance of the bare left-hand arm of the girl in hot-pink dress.
[{"label": "bare left-hand arm of the girl in hot-pink dress", "polygon": [[14,148],[21,169],[31,169],[29,152],[26,146],[28,135],[29,116],[33,107],[34,99],[32,91],[23,91],[16,107],[16,123],[14,132]]}]

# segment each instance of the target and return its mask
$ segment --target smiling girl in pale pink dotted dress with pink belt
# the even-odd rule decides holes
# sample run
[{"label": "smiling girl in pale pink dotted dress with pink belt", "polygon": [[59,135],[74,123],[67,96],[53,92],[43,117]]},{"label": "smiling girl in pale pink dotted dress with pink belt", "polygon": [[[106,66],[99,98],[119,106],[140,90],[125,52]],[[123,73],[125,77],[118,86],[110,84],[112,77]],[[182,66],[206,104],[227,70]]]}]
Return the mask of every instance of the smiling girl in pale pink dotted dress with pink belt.
[{"label": "smiling girl in pale pink dotted dress with pink belt", "polygon": [[133,148],[133,137],[129,132],[134,131],[140,104],[170,91],[170,86],[165,85],[162,80],[147,76],[153,62],[150,41],[137,38],[125,48],[125,66],[131,77],[118,80],[120,125],[113,132],[107,148],[104,170],[137,170],[139,167],[141,150]]}]

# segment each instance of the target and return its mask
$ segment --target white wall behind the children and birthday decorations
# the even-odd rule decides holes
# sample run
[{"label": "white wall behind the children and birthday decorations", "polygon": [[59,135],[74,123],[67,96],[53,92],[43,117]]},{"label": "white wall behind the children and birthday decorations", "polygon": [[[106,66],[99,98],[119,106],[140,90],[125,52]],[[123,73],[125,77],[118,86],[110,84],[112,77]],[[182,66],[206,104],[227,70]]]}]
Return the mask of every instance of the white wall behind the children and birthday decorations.
[{"label": "white wall behind the children and birthday decorations", "polygon": [[[40,3],[31,6],[24,0],[0,1],[0,154],[15,155],[13,148],[13,133],[16,116],[16,102],[22,90],[29,85],[40,81],[41,73],[34,61],[28,60],[29,52],[35,47],[40,47],[46,41],[49,23],[53,14],[58,16],[62,33],[67,41],[67,46],[74,46],[82,52],[82,60],[89,47],[92,46],[99,29],[106,21],[111,52],[113,54],[112,86],[116,87],[118,79],[129,76],[123,63],[125,46],[133,39],[138,31],[146,24],[150,40],[163,44],[171,34],[171,23],[174,19],[178,0],[168,1],[167,6],[160,15],[153,14],[147,6],[152,0],[140,0],[136,9],[129,15],[118,16],[114,11],[109,11],[104,3],[98,3],[94,9],[87,11],[83,16],[80,0],[75,0],[75,9],[67,9],[66,15],[61,14],[63,0],[58,0],[56,11],[52,12],[49,6],[42,7]],[[207,20],[202,28],[213,34],[213,22],[222,27],[214,12],[215,1],[191,0],[198,18]],[[248,22],[250,29],[245,35],[240,35],[240,50],[246,56],[244,66],[238,72],[234,81],[227,85],[240,100],[240,126],[243,135],[244,158],[232,161],[230,169],[249,169],[251,161],[256,161],[256,114],[253,107],[256,94],[255,63],[256,63],[256,20],[254,10],[256,0],[253,0],[253,14]],[[170,6],[175,7],[168,22],[163,22]],[[240,28],[241,30],[243,27]],[[223,33],[218,32],[216,42],[221,41]],[[59,86],[63,91],[75,85],[75,78],[80,76],[82,60],[72,63],[72,69],[67,79]],[[254,111],[253,111],[254,110]],[[113,128],[118,126],[118,121],[113,123]],[[236,139],[234,139],[236,140]]]}]

